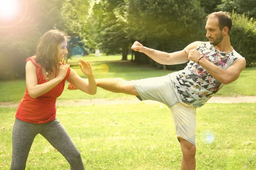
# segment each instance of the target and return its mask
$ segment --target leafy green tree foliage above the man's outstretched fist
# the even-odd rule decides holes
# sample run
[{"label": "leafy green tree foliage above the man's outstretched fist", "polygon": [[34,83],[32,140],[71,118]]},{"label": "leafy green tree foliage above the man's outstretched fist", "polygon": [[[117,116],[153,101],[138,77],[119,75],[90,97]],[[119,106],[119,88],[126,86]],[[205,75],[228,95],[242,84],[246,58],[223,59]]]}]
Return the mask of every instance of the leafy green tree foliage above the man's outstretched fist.
[{"label": "leafy green tree foliage above the man's outstretched fist", "polygon": [[[126,56],[132,40],[143,41],[149,47],[162,47],[170,39],[192,40],[202,30],[204,11],[199,0],[92,1],[90,14],[86,14],[87,8],[81,8],[84,6],[81,2],[89,3],[75,0],[64,4],[62,14],[67,20],[66,26],[83,35],[86,45],[93,41],[95,48],[98,46],[107,54],[122,51],[123,57]],[[139,57],[137,53],[135,56]]]}]

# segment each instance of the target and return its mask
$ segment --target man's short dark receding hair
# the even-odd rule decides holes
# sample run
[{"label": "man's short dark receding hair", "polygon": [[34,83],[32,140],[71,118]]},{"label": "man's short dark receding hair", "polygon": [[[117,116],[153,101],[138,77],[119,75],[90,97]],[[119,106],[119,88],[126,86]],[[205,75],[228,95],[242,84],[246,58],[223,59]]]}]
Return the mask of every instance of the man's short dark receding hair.
[{"label": "man's short dark receding hair", "polygon": [[223,11],[212,12],[206,17],[206,19],[209,20],[212,17],[218,18],[220,30],[222,30],[224,27],[227,27],[228,33],[230,32],[232,28],[232,19],[229,16],[229,14],[227,14],[227,12],[223,12]]}]

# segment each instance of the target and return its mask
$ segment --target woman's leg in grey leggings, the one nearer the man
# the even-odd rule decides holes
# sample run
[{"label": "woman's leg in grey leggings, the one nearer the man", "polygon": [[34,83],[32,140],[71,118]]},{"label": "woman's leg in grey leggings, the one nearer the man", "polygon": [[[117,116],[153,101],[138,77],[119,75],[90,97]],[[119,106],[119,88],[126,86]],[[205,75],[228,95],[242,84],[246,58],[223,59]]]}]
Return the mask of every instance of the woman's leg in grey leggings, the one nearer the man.
[{"label": "woman's leg in grey leggings, the one nearer the man", "polygon": [[54,119],[42,126],[42,132],[50,144],[57,149],[70,164],[71,170],[84,170],[84,164],[76,145],[72,142],[69,134],[58,119]]}]

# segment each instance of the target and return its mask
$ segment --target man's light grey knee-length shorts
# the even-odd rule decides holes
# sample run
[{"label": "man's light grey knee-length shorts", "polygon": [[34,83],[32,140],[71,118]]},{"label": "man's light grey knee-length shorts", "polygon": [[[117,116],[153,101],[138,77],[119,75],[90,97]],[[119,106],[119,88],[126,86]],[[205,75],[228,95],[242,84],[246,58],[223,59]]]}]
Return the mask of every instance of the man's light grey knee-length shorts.
[{"label": "man's light grey knee-length shorts", "polygon": [[177,137],[195,145],[196,108],[183,103],[168,75],[148,79],[132,80],[138,99],[154,100],[168,106],[172,113]]}]

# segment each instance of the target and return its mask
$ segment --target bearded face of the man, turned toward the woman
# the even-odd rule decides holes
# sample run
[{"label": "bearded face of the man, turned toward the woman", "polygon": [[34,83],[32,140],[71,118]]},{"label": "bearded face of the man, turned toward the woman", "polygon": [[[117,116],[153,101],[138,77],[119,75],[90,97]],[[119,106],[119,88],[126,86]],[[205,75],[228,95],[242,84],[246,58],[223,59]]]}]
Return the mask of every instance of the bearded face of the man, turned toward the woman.
[{"label": "bearded face of the man, turned toward the woman", "polygon": [[219,44],[224,38],[222,30],[220,30],[218,25],[218,18],[212,17],[207,20],[205,26],[205,29],[207,30],[206,37],[209,39],[210,44],[212,45]]}]

